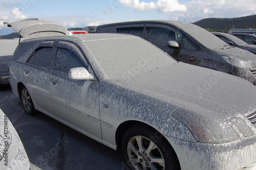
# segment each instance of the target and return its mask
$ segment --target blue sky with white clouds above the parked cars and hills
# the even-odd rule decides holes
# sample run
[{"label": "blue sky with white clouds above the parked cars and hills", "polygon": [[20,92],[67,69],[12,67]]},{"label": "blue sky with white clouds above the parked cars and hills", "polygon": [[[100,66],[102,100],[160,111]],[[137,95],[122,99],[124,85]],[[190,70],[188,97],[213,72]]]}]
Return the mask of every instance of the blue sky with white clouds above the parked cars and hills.
[{"label": "blue sky with white clouds above the parked cars and hills", "polygon": [[67,28],[83,28],[146,19],[193,23],[203,18],[253,13],[256,0],[0,0],[0,29],[6,28],[4,21],[30,17],[53,19]]}]

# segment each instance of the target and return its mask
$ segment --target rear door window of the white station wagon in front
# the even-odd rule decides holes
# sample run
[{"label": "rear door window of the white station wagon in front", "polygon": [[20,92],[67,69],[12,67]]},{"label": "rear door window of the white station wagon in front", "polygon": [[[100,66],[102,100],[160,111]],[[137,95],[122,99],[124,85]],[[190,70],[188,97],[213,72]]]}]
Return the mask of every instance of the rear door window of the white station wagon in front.
[{"label": "rear door window of the white station wagon in front", "polygon": [[39,47],[35,50],[28,63],[52,68],[54,59],[53,47]]}]

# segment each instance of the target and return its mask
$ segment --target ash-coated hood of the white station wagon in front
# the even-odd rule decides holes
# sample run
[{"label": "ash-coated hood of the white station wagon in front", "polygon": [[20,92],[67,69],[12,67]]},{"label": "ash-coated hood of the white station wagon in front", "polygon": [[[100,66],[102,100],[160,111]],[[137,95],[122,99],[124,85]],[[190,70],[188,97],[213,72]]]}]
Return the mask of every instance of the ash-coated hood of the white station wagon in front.
[{"label": "ash-coated hood of the white station wagon in front", "polygon": [[182,62],[116,80],[198,116],[223,121],[256,111],[256,88],[250,82]]}]

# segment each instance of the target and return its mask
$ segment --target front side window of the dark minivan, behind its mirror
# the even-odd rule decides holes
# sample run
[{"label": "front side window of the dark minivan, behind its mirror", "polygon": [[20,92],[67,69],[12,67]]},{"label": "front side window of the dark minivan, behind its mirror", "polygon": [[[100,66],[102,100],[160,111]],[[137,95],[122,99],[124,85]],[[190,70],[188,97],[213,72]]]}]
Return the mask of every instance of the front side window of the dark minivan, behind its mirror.
[{"label": "front side window of the dark minivan, behind its mirror", "polygon": [[167,46],[168,41],[176,41],[181,46],[182,36],[168,29],[147,28],[147,40],[159,47]]}]

